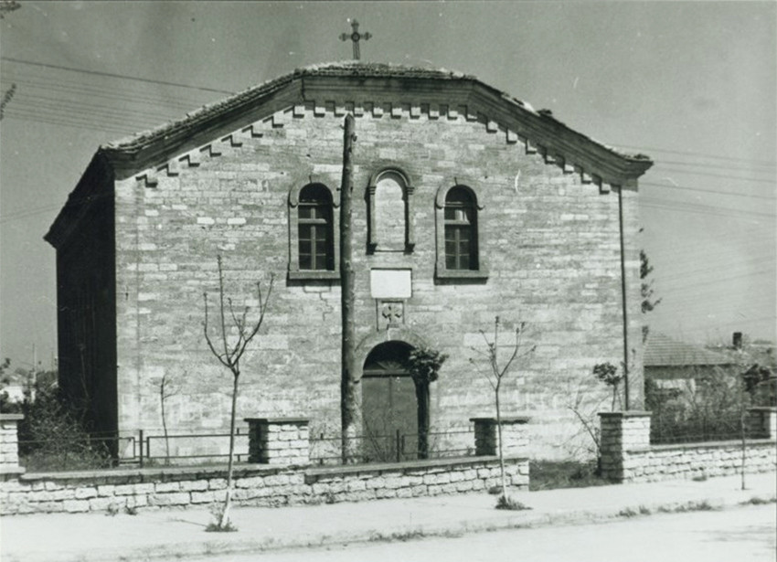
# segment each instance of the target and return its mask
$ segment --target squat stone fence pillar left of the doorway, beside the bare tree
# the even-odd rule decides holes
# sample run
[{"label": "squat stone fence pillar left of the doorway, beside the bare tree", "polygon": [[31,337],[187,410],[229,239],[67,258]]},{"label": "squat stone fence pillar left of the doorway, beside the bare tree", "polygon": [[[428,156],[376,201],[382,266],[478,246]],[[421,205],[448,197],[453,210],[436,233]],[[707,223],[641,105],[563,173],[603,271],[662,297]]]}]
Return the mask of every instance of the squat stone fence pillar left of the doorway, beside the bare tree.
[{"label": "squat stone fence pillar left of the doorway, beside the bare tree", "polygon": [[246,418],[249,424],[249,462],[310,464],[308,420]]}]

